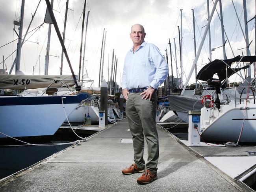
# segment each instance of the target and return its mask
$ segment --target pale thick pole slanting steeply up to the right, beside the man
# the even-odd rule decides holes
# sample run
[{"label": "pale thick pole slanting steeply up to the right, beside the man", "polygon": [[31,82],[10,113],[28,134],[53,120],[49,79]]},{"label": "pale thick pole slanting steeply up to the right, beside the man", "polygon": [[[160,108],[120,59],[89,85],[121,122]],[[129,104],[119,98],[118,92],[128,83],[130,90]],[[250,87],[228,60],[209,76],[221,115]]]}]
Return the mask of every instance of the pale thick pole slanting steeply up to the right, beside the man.
[{"label": "pale thick pole slanting steeply up to the right, beside the man", "polygon": [[193,71],[194,71],[195,65],[197,65],[197,61],[198,61],[200,52],[201,52],[201,50],[202,50],[202,47],[203,47],[203,44],[204,44],[204,40],[205,40],[207,31],[208,31],[208,28],[209,28],[209,26],[210,26],[211,19],[212,19],[214,10],[215,10],[215,8],[216,8],[217,2],[218,2],[218,0],[215,0],[214,5],[213,5],[213,9],[211,10],[211,15],[210,15],[210,17],[209,17],[209,20],[208,20],[206,29],[205,29],[205,31],[204,31],[204,35],[202,36],[202,41],[200,42],[199,48],[198,48],[198,50],[197,50],[197,55],[196,55],[196,57],[195,57],[195,60],[194,60],[194,62],[193,62],[193,65],[191,66],[191,69],[190,69],[189,75],[188,75],[188,77],[187,77],[186,83],[184,84],[183,90],[182,90],[182,92],[181,92],[180,95],[183,95],[183,94],[184,94],[185,89],[186,89],[187,84],[188,84],[188,81],[189,81],[189,79],[190,79],[190,77],[191,77],[191,75],[192,75],[192,73],[193,73]]}]

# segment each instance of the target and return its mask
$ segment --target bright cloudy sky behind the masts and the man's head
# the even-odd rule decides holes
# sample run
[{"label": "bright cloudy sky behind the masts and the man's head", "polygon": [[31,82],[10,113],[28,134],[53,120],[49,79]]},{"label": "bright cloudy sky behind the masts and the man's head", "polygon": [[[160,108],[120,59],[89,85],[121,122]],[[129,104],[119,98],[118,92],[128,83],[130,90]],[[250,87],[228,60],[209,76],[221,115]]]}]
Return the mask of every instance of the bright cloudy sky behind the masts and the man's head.
[{"label": "bright cloudy sky behind the masts and the man's head", "polygon": [[[244,30],[244,17],[243,17],[243,1],[233,0],[236,7],[238,17],[241,20],[241,25]],[[24,13],[24,26],[23,34],[28,28],[28,24],[32,18],[39,0],[25,0],[25,13]],[[66,40],[65,46],[68,50],[69,58],[72,63],[75,74],[78,74],[79,55],[80,55],[80,41],[82,30],[82,15],[84,0],[69,0],[69,11],[67,18]],[[13,20],[20,18],[20,5],[21,0],[8,0],[1,1],[0,6],[0,46],[7,44],[17,39],[16,33],[13,31]],[[58,21],[58,26],[63,32],[64,16],[65,16],[66,0],[54,0],[54,15]],[[213,2],[210,1],[210,12],[213,7]],[[165,55],[167,49],[168,57],[170,59],[169,38],[174,54],[174,38],[176,41],[178,76],[180,76],[180,48],[178,44],[178,26],[180,23],[180,9],[182,10],[182,36],[183,36],[183,68],[184,68],[184,81],[189,73],[190,67],[193,63],[194,55],[194,41],[193,41],[193,18],[192,10],[195,11],[195,32],[197,49],[204,33],[207,24],[207,6],[206,0],[87,0],[86,15],[89,13],[87,43],[85,49],[85,68],[88,72],[90,79],[95,81],[95,86],[98,85],[98,74],[100,68],[100,51],[102,43],[103,30],[107,31],[106,35],[106,48],[104,55],[104,72],[103,78],[108,81],[110,78],[112,51],[115,49],[115,55],[118,58],[117,66],[117,82],[120,85],[124,57],[126,52],[132,46],[130,40],[130,28],[133,24],[142,24],[147,33],[145,41],[151,42],[158,46],[161,53]],[[217,11],[219,12],[219,4],[217,4]],[[37,28],[44,22],[46,12],[45,0],[41,0],[39,9],[35,15],[29,31]],[[248,20],[255,15],[254,0],[247,0],[247,15]],[[85,16],[86,17],[86,16]],[[232,5],[232,0],[223,0],[223,18],[224,28],[228,35],[228,39],[232,46],[235,55],[241,55],[242,51],[245,53],[245,40],[241,33],[239,23],[237,22],[236,13]],[[203,27],[203,28],[202,28]],[[17,26],[15,30],[19,33]],[[255,54],[255,32],[254,20],[248,23],[250,52]],[[35,33],[34,33],[35,32]],[[45,68],[45,54],[47,46],[47,32],[48,24],[43,24],[38,30],[30,32],[26,39],[28,41],[22,47],[20,70],[24,74],[32,74],[34,66],[34,74],[44,74]],[[225,37],[226,39],[226,37]],[[38,44],[37,44],[38,42]],[[213,15],[211,22],[211,48],[222,45],[221,41],[221,24],[217,12]],[[0,56],[4,56],[5,65],[9,72],[13,60],[16,56],[17,40],[13,41],[6,46],[0,48]],[[13,55],[11,55],[14,52]],[[40,59],[39,59],[40,55]],[[50,43],[50,59],[48,74],[59,74],[61,63],[61,45],[57,38],[54,26],[52,26],[52,35]],[[228,42],[226,43],[226,55],[232,58],[232,51]],[[0,62],[2,62],[0,57]],[[200,53],[198,59],[198,70],[203,65],[208,63],[209,58],[209,44],[208,36]],[[217,48],[212,52],[212,59],[222,59],[223,50]],[[39,62],[40,60],[40,62]],[[40,65],[39,65],[40,64]],[[171,66],[171,61],[169,60]],[[0,68],[3,63],[0,64]],[[173,59],[173,74],[176,77],[176,63]],[[109,68],[109,70],[108,70]],[[171,68],[171,67],[170,67]],[[14,74],[14,71],[12,72]],[[66,59],[63,63],[63,74],[71,74]],[[171,74],[171,71],[170,71]],[[195,83],[195,74],[191,78],[190,83]],[[238,81],[238,79],[234,79]]]}]

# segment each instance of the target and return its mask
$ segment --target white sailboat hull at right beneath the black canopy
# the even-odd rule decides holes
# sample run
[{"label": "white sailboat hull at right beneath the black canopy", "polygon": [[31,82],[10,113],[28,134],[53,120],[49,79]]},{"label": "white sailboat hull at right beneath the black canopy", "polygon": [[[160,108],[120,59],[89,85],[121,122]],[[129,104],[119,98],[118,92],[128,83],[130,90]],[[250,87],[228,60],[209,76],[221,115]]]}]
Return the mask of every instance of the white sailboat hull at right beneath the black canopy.
[{"label": "white sailboat hull at right beneath the black canopy", "polygon": [[[255,104],[221,105],[221,109],[201,109],[201,137],[206,141],[237,142],[242,126],[239,142],[256,142],[256,107]],[[208,111],[207,111],[208,110]],[[213,118],[209,118],[210,116]],[[243,119],[245,115],[244,125]]]}]

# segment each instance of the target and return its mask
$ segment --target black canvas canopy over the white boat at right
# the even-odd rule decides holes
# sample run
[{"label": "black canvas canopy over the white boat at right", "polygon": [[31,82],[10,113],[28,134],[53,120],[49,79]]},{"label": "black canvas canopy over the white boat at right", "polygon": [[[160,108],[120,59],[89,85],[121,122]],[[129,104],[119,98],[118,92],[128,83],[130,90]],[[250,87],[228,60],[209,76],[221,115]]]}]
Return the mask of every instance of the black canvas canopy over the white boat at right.
[{"label": "black canvas canopy over the white boat at right", "polygon": [[[240,56],[234,57],[232,59],[215,59],[211,61],[207,65],[203,66],[202,69],[197,74],[197,79],[202,81],[207,81],[208,79],[212,78],[214,74],[217,73],[219,79],[223,81],[226,79],[226,64],[228,65],[228,78],[232,76],[235,72],[249,68],[250,64],[256,61],[255,56]],[[241,68],[231,68],[231,64],[234,62],[247,62],[248,65],[245,65]]]}]

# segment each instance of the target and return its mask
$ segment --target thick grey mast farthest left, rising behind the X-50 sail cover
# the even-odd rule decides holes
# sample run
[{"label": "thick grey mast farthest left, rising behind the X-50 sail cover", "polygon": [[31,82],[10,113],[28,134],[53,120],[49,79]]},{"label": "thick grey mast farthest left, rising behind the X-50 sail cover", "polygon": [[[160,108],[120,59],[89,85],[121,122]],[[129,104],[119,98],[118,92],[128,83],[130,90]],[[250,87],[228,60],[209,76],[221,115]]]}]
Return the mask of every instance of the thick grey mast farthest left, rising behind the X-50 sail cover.
[{"label": "thick grey mast farthest left, rising behind the X-50 sail cover", "polygon": [[20,70],[20,53],[21,53],[21,40],[22,40],[22,30],[23,30],[23,18],[24,18],[24,4],[25,0],[21,2],[21,10],[20,10],[20,31],[19,31],[19,40],[17,44],[17,59],[16,59],[16,69],[15,74],[17,74]]}]

